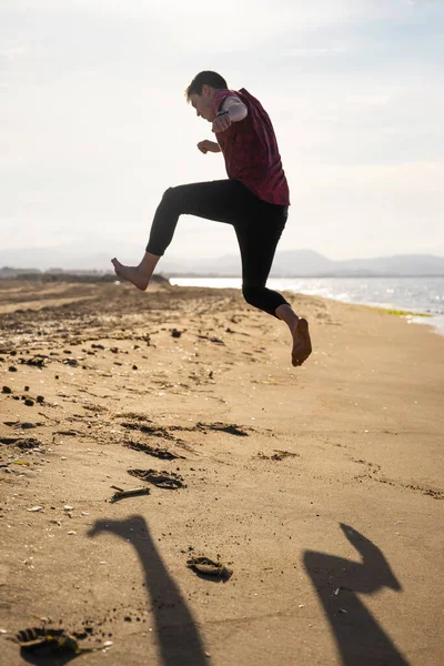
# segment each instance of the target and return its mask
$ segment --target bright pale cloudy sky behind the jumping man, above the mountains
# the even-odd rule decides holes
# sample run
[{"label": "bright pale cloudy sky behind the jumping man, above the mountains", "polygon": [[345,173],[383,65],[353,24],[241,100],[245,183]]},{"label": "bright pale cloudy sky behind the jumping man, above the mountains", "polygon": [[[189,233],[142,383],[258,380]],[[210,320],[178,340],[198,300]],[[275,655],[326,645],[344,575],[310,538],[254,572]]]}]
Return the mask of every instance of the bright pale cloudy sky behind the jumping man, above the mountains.
[{"label": "bright pale cloudy sky behind the jumping man, above the mountains", "polygon": [[[0,250],[139,261],[172,185],[226,176],[186,104],[201,70],[271,115],[280,250],[444,255],[443,0],[1,0]],[[182,216],[174,258],[236,252]]]}]

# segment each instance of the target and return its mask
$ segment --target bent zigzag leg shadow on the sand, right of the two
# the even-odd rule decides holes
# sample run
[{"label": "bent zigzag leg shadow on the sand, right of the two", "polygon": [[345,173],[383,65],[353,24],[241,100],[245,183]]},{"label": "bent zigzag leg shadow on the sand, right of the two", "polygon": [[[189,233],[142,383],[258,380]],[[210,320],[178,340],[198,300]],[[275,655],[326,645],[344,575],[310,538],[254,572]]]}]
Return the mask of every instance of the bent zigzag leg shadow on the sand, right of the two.
[{"label": "bent zigzag leg shadow on the sand, right of the two", "polygon": [[362,563],[305,551],[303,561],[330,622],[345,666],[407,666],[408,662],[366,609],[357,594],[373,594],[383,587],[401,592],[380,548],[362,534],[341,523],[346,538]]}]

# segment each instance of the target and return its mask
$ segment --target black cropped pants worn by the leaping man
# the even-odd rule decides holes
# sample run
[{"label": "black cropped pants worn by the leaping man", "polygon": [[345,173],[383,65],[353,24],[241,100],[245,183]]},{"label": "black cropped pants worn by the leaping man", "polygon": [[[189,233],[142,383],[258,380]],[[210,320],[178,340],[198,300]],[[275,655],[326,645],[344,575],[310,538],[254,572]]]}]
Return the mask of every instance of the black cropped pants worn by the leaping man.
[{"label": "black cropped pants worn by the leaping man", "polygon": [[287,206],[262,201],[236,180],[170,188],[155,211],[147,252],[158,256],[164,253],[181,214],[234,226],[242,259],[242,293],[248,303],[272,315],[287,303],[265,287]]}]

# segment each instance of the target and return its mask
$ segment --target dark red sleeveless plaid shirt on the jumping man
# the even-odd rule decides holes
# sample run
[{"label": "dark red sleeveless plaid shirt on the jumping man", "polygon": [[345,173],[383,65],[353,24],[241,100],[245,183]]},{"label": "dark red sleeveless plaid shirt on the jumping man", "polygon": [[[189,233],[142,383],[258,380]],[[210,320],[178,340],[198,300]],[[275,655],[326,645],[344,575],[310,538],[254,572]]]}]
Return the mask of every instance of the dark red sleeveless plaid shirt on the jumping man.
[{"label": "dark red sleeveless plaid shirt on the jumping man", "polygon": [[249,110],[244,120],[215,134],[229,179],[240,180],[263,201],[290,205],[289,184],[269,114],[244,88],[218,90],[213,99],[214,113],[222,110],[228,97],[236,97]]}]

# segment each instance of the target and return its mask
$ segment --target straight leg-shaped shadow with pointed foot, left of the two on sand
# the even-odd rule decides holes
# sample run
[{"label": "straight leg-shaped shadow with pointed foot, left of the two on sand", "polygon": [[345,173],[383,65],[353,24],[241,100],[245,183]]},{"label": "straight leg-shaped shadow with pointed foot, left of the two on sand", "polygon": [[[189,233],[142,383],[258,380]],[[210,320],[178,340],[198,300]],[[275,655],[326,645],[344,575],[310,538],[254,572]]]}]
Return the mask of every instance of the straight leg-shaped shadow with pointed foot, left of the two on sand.
[{"label": "straight leg-shaped shadow with pointed foot, left of the two on sand", "polygon": [[103,532],[129,542],[139,556],[154,613],[163,666],[208,666],[195,620],[158,553],[147,521],[142,516],[130,516],[124,521],[98,521],[88,535],[93,537]]}]

